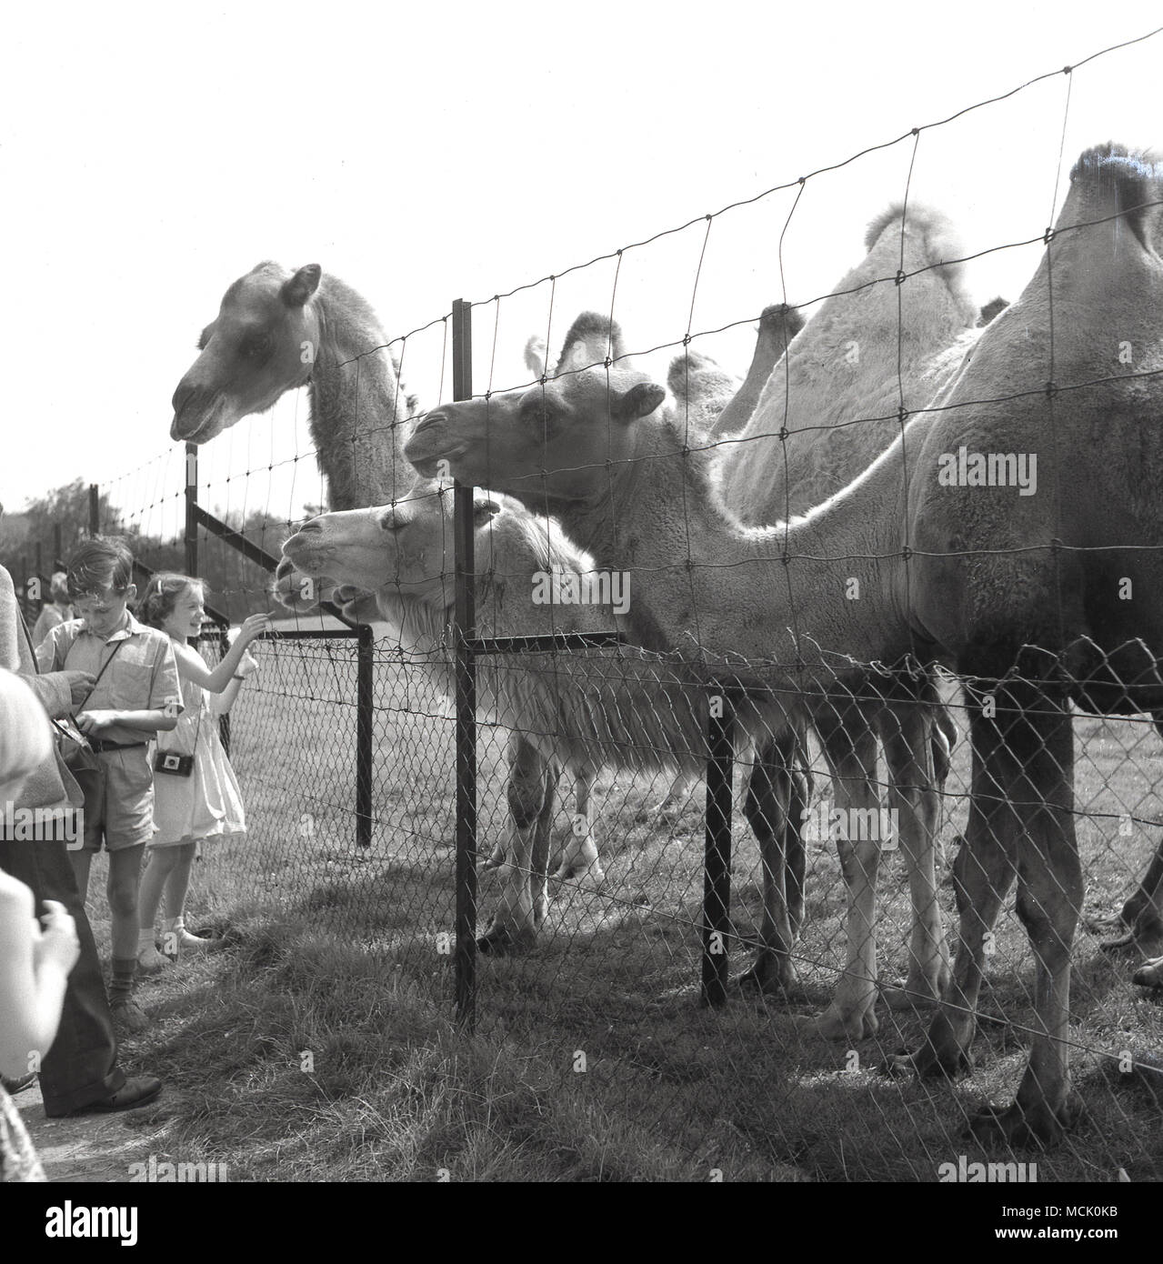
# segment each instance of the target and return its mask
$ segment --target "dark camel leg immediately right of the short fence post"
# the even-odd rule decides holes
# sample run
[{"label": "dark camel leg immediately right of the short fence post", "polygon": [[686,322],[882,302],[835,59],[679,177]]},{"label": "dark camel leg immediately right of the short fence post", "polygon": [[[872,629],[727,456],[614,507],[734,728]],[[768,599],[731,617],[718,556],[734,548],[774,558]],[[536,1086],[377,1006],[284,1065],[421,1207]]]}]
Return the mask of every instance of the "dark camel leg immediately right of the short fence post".
[{"label": "dark camel leg immediately right of the short fence post", "polygon": [[[795,981],[791,949],[803,918],[803,819],[807,806],[800,798],[803,789],[798,793],[791,771],[796,746],[796,731],[788,727],[756,751],[743,809],[760,847],[764,916],[760,948],[751,967],[740,976],[740,986],[757,987],[764,992],[786,991]],[[798,915],[793,911],[796,901]]]}]

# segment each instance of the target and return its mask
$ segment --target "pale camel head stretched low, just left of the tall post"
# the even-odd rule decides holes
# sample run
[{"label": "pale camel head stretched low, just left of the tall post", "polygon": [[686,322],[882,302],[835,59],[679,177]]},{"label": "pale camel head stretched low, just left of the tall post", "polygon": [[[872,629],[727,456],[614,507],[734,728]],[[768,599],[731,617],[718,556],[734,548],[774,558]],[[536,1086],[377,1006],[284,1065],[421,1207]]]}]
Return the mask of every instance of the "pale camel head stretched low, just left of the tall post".
[{"label": "pale camel head stretched low, just left of the tall post", "polygon": [[[292,574],[365,592],[398,590],[442,600],[454,574],[453,498],[449,488],[421,484],[406,501],[321,513],[283,545]],[[474,530],[501,512],[485,495],[473,504]]]}]

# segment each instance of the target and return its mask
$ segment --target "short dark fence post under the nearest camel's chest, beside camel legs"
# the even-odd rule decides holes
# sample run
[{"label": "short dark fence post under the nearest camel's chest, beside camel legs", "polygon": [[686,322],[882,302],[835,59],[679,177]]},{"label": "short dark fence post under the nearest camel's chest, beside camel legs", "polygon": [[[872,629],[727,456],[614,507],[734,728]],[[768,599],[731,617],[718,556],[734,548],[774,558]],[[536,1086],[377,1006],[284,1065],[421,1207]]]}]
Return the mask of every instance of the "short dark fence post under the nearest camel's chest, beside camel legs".
[{"label": "short dark fence post under the nearest camel's chest, beside camel legs", "polygon": [[[718,703],[718,705],[715,705]],[[718,712],[718,714],[715,714]],[[704,1005],[727,1004],[731,932],[731,799],[734,767],[734,713],[723,694],[712,694],[707,722],[707,842],[703,867]]]}]

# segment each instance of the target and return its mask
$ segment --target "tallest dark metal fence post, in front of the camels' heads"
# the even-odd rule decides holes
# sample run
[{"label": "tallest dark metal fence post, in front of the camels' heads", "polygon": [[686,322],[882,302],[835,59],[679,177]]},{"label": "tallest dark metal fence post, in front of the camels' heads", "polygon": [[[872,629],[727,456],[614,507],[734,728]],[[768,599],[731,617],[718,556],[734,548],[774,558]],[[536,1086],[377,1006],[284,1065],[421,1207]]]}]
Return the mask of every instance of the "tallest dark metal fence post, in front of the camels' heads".
[{"label": "tallest dark metal fence post, in front of the camels' heads", "polygon": [[[473,308],[453,303],[453,398],[473,396]],[[453,484],[456,569],[456,1021],[477,1023],[477,660],[473,489]]]}]

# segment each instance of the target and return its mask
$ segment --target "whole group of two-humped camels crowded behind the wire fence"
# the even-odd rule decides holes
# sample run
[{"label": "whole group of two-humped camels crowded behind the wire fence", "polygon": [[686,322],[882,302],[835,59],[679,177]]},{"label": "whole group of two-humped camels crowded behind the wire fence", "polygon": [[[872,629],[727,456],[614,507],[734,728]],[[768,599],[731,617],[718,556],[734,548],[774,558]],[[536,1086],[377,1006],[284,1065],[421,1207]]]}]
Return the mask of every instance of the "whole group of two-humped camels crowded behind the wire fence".
[{"label": "whole group of two-humped camels crowded behind the wire fence", "polygon": [[[482,489],[483,635],[617,624],[616,648],[480,664],[479,709],[511,732],[509,827],[483,948],[536,940],[561,770],[585,828],[559,872],[598,877],[597,774],[697,774],[708,699],[729,695],[753,747],[746,815],[764,881],[745,982],[780,992],[793,981],[809,733],[841,810],[879,806],[882,753],[909,868],[908,977],[877,981],[880,842],[841,837],[847,961],[814,1025],[857,1040],[876,1030],[879,996],[929,1006],[928,1038],[901,1064],[965,1071],[986,937],[1016,878],[1037,1026],[1015,1101],[972,1127],[983,1141],[1049,1145],[1080,1111],[1071,708],[1147,712],[1163,732],[1163,164],[1114,144],[1083,153],[1034,277],[989,320],[939,214],[890,207],[866,246],[807,324],[785,307],[764,313],[742,382],[688,354],[667,392],[614,324],[584,313],[556,364],[530,359],[526,389],[418,417],[387,351],[367,354],[387,339],[359,295],[315,264],[262,263],[204,330],[171,434],[207,442],[310,386],[332,512],[287,541],[276,592],[307,604],[298,579],[311,576],[314,599],[335,594],[387,621],[445,691],[454,568],[441,479]],[[951,454],[963,471],[966,453],[1001,474],[1028,459],[1037,484],[946,478]],[[624,614],[532,598],[535,574],[595,570],[630,575]],[[938,669],[961,679],[972,752],[952,969],[937,832],[957,726]],[[1153,958],[1134,981],[1163,986],[1163,842],[1121,930]]]}]

